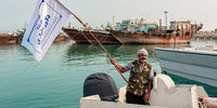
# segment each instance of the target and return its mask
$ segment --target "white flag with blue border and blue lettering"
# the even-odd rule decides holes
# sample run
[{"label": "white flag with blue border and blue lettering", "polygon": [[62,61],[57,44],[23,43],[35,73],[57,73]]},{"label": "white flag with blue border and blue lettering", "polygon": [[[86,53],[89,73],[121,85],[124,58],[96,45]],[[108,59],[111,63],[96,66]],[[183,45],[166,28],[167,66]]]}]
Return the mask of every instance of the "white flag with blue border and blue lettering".
[{"label": "white flag with blue border and blue lettering", "polygon": [[22,45],[41,60],[69,15],[71,12],[58,0],[38,0]]}]

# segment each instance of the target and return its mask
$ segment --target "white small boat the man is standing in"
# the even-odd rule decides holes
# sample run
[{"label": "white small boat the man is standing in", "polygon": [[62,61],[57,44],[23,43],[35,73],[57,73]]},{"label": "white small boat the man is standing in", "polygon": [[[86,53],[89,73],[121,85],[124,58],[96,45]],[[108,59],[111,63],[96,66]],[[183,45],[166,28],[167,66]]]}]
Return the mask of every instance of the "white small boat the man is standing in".
[{"label": "white small boat the man is standing in", "polygon": [[202,86],[175,85],[174,81],[166,75],[154,77],[153,89],[150,95],[150,106],[126,104],[125,94],[126,86],[119,90],[117,102],[101,100],[99,95],[81,97],[80,108],[203,108],[199,97],[208,98]]}]

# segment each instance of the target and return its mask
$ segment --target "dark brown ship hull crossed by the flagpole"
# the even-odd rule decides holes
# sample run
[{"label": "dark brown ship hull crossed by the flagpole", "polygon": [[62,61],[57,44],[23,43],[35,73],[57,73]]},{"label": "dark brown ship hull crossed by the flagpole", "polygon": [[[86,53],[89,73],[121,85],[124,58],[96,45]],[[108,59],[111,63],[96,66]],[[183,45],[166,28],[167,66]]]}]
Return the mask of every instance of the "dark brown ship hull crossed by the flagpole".
[{"label": "dark brown ship hull crossed by the flagpole", "polygon": [[[63,27],[62,30],[76,43],[97,44],[94,38],[87,30],[65,27]],[[120,42],[106,30],[91,30],[91,32],[102,44],[120,44]]]}]

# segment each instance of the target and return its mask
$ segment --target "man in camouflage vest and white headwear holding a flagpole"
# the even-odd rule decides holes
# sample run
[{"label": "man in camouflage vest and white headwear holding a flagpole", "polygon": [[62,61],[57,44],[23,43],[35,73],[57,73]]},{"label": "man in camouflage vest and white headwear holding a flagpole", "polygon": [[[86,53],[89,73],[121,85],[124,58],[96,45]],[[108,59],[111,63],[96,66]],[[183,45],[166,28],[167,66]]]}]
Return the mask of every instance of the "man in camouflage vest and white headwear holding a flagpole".
[{"label": "man in camouflage vest and white headwear holding a flagpole", "polygon": [[127,85],[127,103],[129,104],[148,104],[151,92],[151,80],[153,78],[152,67],[148,64],[148,52],[141,49],[137,52],[138,59],[122,67],[116,60],[111,59],[111,63],[120,71],[130,70],[129,81]]}]

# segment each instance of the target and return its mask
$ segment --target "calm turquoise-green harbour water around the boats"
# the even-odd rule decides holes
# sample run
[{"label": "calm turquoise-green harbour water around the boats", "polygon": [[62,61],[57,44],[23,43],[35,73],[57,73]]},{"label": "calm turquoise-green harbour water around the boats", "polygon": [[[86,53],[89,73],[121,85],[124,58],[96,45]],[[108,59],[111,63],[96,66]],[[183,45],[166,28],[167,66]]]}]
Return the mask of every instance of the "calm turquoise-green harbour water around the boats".
[{"label": "calm turquoise-green harbour water around the boats", "polygon": [[[192,41],[190,46],[206,44],[217,46],[217,41]],[[159,73],[155,46],[163,45],[104,45],[123,66],[137,58],[139,49],[146,48],[148,62]],[[79,108],[84,81],[94,72],[110,75],[118,89],[126,85],[99,45],[53,43],[40,63],[21,45],[0,45],[0,108]],[[124,76],[128,79],[129,72]],[[171,78],[176,83],[202,84]],[[209,96],[217,96],[216,87],[204,87]]]}]

